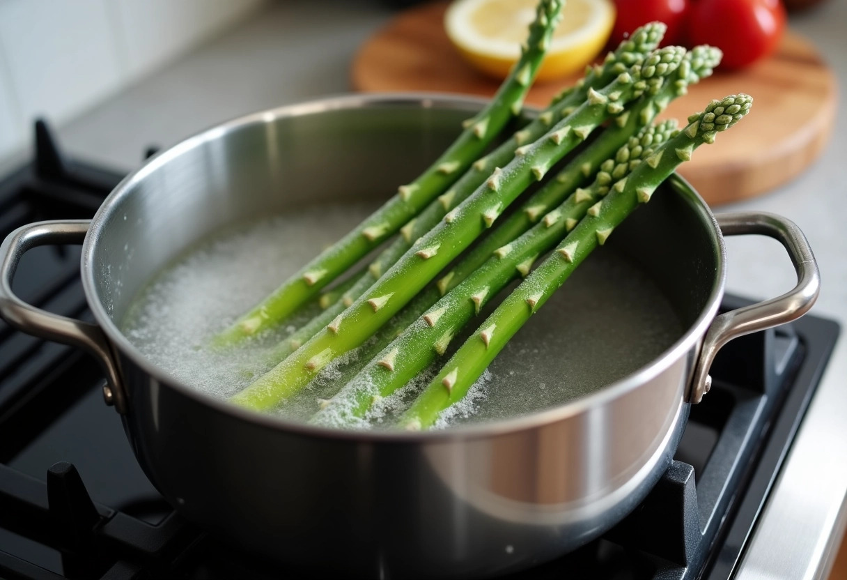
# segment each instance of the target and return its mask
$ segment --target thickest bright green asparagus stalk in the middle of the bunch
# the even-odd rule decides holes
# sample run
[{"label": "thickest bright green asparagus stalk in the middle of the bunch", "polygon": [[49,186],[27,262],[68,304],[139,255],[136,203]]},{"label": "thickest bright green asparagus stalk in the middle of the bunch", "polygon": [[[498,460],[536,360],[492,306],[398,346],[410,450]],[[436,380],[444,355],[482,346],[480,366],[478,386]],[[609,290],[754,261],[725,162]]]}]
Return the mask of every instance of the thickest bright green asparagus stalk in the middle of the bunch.
[{"label": "thickest bright green asparagus stalk in the middle of the bunch", "polygon": [[267,410],[309,382],[330,360],[370,337],[397,310],[497,217],[533,181],[542,179],[558,160],[589,137],[618,104],[639,97],[651,86],[661,86],[684,56],[684,48],[665,47],[651,53],[642,66],[618,75],[601,89],[589,91],[588,101],[554,125],[538,141],[516,150],[503,169],[452,209],[438,226],[418,241],[385,272],[367,293],[358,298],[323,331],[287,359],[231,399],[254,410]]}]

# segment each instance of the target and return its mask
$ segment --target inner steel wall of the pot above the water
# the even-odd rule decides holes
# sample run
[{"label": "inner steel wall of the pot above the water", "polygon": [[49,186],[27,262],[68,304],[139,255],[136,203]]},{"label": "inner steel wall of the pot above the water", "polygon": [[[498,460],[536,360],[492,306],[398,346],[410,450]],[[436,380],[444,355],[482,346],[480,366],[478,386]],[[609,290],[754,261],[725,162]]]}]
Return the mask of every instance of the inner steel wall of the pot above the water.
[{"label": "inner steel wall of the pot above the water", "polygon": [[[235,120],[161,153],[113,192],[91,226],[84,276],[91,276],[95,315],[122,349],[142,360],[119,327],[133,298],[174,258],[221,228],[264,216],[329,204],[376,207],[429,165],[478,108],[479,101],[460,98],[340,98]],[[716,228],[705,204],[678,177],[595,254],[601,253],[608,256],[601,261],[625,268],[601,265],[584,275],[595,280],[585,282],[584,296],[591,294],[591,284],[613,287],[614,276],[627,278],[637,270],[667,304],[656,312],[676,319],[666,325],[676,334],[651,357],[689,332],[714,300],[721,260]],[[590,270],[588,263],[580,276],[582,269]],[[642,294],[643,303],[649,297]],[[553,315],[532,324],[556,332],[567,324],[563,309],[584,311],[585,304],[566,304],[579,299],[551,301],[545,310]],[[616,304],[614,310],[595,301],[590,307],[595,314],[583,315],[582,324],[595,320],[617,336],[618,321],[632,313]],[[633,304],[639,308],[638,301]],[[649,317],[632,321],[650,323]],[[600,348],[602,342],[596,344]],[[619,348],[615,356],[627,351]],[[518,350],[511,356],[527,358]],[[597,364],[610,363],[604,356]],[[540,373],[560,376],[562,361],[547,358],[550,364]]]}]

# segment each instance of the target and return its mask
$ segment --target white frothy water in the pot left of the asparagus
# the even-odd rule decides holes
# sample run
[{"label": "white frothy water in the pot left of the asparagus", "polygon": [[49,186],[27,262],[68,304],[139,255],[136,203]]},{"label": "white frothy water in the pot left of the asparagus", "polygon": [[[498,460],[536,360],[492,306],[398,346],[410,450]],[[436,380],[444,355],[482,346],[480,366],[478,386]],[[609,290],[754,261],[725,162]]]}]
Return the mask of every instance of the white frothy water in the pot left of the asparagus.
[{"label": "white frothy water in the pot left of the asparagus", "polygon": [[303,208],[236,226],[190,248],[145,287],[124,332],[141,353],[181,382],[228,398],[259,372],[273,345],[317,312],[226,351],[204,347],[322,248],[368,215],[368,207]]}]

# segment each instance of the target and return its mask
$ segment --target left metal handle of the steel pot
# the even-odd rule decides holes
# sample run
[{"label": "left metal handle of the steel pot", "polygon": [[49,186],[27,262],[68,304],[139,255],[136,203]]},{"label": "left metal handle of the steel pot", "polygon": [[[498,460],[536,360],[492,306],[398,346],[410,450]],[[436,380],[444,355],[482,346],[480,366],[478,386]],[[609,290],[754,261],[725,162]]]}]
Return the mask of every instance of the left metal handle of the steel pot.
[{"label": "left metal handle of the steel pot", "polygon": [[100,326],[36,308],[12,291],[14,272],[27,250],[47,244],[82,243],[90,225],[91,220],[38,221],[21,226],[6,237],[0,245],[0,259],[3,260],[0,265],[0,316],[19,331],[80,347],[93,354],[106,373],[108,384],[103,387],[103,398],[123,414],[126,399],[118,366]]}]

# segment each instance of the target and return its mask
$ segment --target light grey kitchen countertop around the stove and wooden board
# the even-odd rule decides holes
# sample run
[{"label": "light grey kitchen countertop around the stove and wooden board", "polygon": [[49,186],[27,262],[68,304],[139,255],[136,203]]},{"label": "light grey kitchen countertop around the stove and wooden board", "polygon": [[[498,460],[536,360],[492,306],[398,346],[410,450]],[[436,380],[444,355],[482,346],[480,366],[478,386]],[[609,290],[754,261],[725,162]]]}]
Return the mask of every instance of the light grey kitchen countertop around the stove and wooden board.
[{"label": "light grey kitchen countertop around the stove and wooden board", "polygon": [[[352,55],[391,14],[388,8],[361,0],[272,3],[252,20],[64,125],[60,140],[80,158],[133,169],[140,165],[141,152],[148,145],[168,146],[221,120],[255,110],[348,92]],[[794,14],[790,20],[794,31],[815,42],[842,87],[829,147],[810,170],[766,197],[718,209],[766,210],[794,220],[809,238],[822,272],[822,293],[813,312],[842,323],[847,322],[845,22],[847,2],[842,0]],[[794,286],[794,270],[778,243],[735,237],[728,238],[727,246],[729,291],[771,297]],[[833,548],[829,539],[843,529],[844,513],[832,505],[814,505],[813,499],[833,498],[847,488],[847,430],[828,431],[828,426],[843,422],[847,409],[844,376],[847,341],[841,340],[739,577],[813,578],[822,573],[816,566],[795,568],[801,566],[800,558],[791,558],[796,538],[783,544],[786,538],[780,538],[774,526],[791,516],[792,510],[820,512],[821,525],[835,533],[809,540],[806,557],[812,560]],[[794,501],[797,493],[800,505]]]}]

